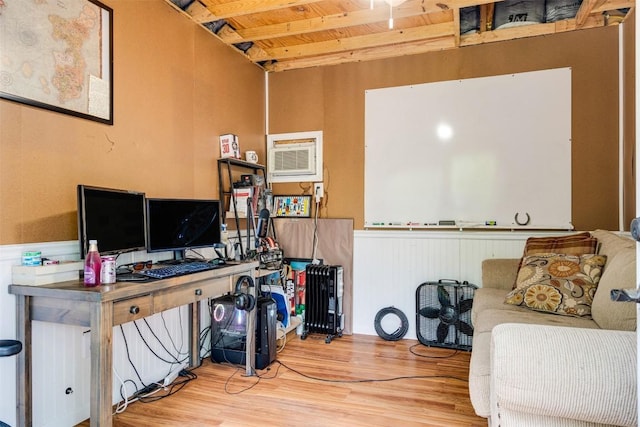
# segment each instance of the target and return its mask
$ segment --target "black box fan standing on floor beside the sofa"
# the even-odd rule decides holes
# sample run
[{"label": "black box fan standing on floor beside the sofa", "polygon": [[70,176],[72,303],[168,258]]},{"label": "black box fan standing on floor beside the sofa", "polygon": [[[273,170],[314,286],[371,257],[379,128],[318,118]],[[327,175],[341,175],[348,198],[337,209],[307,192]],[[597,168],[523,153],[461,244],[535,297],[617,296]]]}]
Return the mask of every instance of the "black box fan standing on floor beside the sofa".
[{"label": "black box fan standing on floor beside the sofa", "polygon": [[416,335],[421,344],[471,351],[471,307],[477,286],[456,280],[416,289]]}]

